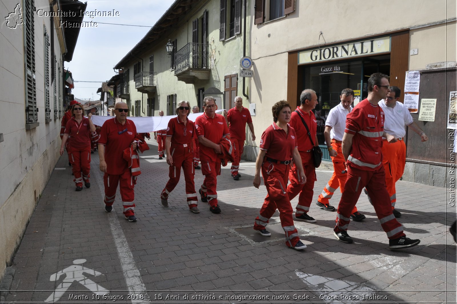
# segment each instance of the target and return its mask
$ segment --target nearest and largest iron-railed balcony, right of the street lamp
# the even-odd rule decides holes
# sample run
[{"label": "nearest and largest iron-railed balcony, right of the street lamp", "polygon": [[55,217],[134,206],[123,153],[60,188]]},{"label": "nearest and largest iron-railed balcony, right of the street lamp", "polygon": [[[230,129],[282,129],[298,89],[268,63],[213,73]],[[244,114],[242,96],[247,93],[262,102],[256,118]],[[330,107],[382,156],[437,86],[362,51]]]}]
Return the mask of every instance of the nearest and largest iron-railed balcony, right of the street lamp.
[{"label": "nearest and largest iron-railed balcony, right of the street lamp", "polygon": [[187,43],[175,53],[175,76],[179,81],[208,80],[210,74],[209,44]]}]

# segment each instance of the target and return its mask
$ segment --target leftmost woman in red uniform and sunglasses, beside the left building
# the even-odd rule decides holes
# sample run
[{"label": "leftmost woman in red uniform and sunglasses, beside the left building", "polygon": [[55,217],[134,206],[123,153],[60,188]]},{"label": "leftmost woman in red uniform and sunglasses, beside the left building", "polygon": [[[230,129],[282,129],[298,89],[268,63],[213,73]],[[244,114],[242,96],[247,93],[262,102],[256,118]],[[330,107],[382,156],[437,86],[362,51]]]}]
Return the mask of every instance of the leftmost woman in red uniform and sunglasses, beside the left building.
[{"label": "leftmost woman in red uniform and sunglasses, beside the left building", "polygon": [[[90,187],[89,171],[90,171],[90,144],[92,132],[95,132],[95,125],[92,123],[89,113],[86,118],[83,115],[83,106],[75,103],[71,108],[71,119],[67,122],[60,145],[60,155],[64,154],[65,143],[68,136],[71,136],[71,141],[68,148],[69,160],[73,167],[74,183],[76,191],[83,190],[83,179],[86,188]],[[82,172],[82,176],[81,176]]]}]

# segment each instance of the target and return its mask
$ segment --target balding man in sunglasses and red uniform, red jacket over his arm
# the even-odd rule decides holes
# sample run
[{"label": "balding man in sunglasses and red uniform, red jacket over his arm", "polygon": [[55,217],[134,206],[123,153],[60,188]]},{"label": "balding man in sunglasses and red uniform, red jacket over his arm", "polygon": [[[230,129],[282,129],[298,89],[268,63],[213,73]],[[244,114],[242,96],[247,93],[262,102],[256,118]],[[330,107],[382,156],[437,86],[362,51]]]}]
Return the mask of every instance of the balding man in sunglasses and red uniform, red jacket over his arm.
[{"label": "balding man in sunglasses and red uniform, red jacket over his arm", "polygon": [[[136,222],[134,215],[135,194],[133,192],[133,178],[128,162],[123,158],[124,150],[132,146],[137,148],[134,141],[137,128],[132,120],[127,119],[127,103],[116,103],[116,116],[105,121],[101,127],[98,141],[98,155],[100,157],[100,171],[104,172],[105,184],[105,211],[112,212],[117,184],[119,184],[124,216],[129,222]],[[106,148],[106,149],[105,149]]]}]

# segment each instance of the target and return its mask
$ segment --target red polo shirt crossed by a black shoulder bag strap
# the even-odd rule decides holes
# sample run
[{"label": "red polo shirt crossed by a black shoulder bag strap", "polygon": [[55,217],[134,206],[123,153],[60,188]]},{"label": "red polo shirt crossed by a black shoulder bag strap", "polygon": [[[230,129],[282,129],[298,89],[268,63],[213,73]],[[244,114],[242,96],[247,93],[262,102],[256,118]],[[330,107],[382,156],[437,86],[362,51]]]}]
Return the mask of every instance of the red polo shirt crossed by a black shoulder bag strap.
[{"label": "red polo shirt crossed by a black shoulder bag strap", "polygon": [[[308,125],[309,132],[311,133],[311,138],[313,142],[316,140],[316,132],[317,132],[317,121],[316,116],[314,116],[313,111],[309,111],[309,113],[303,112],[300,107],[297,107],[300,116],[303,117],[305,120],[306,125]],[[297,112],[293,111],[290,117],[289,125],[295,129],[297,133],[297,140],[298,140],[298,151],[299,152],[306,152],[311,150],[314,145],[313,142],[309,139],[308,131],[306,130],[305,126],[303,125],[302,119]],[[316,144],[314,142],[314,144]]]}]

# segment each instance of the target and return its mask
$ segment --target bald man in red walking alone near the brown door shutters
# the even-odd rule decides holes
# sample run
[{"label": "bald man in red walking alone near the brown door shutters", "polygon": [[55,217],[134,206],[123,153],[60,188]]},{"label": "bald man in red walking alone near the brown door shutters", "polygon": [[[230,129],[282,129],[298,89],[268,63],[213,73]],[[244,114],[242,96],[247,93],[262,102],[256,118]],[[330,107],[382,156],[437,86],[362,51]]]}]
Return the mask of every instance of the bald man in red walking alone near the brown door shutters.
[{"label": "bald man in red walking alone near the brown door shutters", "polygon": [[230,171],[232,172],[233,179],[239,180],[241,175],[238,173],[238,169],[241,154],[243,154],[244,140],[246,139],[246,123],[249,126],[249,130],[251,130],[252,140],[255,141],[251,114],[248,109],[243,107],[243,99],[239,96],[235,97],[235,107],[228,110],[227,123],[230,140],[235,150],[235,160],[232,163]]}]

